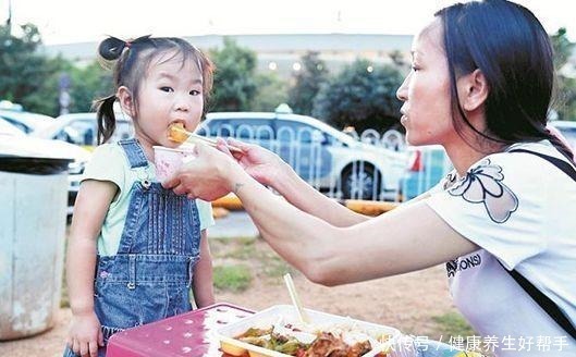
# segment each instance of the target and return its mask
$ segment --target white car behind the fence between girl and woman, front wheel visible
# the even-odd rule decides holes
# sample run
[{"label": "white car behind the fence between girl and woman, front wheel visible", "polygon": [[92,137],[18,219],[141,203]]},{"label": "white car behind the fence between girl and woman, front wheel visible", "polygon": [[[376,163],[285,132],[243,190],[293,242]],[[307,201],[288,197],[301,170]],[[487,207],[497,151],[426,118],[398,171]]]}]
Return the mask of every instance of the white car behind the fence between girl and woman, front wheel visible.
[{"label": "white car behind the fence between girl and woman, front wheel visible", "polygon": [[315,118],[292,113],[209,113],[197,132],[257,143],[339,198],[393,199],[406,165],[403,152],[360,143]]}]

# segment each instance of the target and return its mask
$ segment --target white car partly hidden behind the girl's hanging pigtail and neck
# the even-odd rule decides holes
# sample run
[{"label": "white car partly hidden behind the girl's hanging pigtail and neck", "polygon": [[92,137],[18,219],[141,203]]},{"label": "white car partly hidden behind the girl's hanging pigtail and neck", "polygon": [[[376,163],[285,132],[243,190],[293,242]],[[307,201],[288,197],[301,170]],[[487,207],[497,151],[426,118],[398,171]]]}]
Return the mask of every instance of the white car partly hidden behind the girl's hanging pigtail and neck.
[{"label": "white car partly hidden behind the girl's hanging pigtail and neck", "polygon": [[[133,136],[134,128],[130,118],[117,113],[117,127],[110,141]],[[41,138],[63,140],[93,150],[96,146],[98,125],[95,112],[73,113],[58,116],[50,125],[32,135]]]}]

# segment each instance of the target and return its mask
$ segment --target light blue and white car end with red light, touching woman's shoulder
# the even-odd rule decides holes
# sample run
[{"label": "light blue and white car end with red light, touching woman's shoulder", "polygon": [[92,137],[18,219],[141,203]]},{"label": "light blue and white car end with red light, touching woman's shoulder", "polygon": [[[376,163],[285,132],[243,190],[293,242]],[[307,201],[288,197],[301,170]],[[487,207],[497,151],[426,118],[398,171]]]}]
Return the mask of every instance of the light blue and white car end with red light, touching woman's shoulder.
[{"label": "light blue and white car end with red light, touching woman's shoulder", "polygon": [[408,167],[401,184],[402,200],[409,200],[432,188],[453,168],[440,145],[410,146]]}]

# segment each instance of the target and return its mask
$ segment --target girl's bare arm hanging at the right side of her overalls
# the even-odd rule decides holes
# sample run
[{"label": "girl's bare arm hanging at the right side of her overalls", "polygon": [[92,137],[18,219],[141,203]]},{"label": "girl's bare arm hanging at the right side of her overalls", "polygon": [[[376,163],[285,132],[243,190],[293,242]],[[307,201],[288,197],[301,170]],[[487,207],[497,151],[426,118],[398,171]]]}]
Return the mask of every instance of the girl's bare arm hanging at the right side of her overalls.
[{"label": "girl's bare arm hanging at the right side of her overalls", "polygon": [[208,245],[206,230],[203,230],[200,239],[200,260],[194,267],[194,281],[192,284],[194,299],[197,307],[215,304],[212,279],[212,257]]}]

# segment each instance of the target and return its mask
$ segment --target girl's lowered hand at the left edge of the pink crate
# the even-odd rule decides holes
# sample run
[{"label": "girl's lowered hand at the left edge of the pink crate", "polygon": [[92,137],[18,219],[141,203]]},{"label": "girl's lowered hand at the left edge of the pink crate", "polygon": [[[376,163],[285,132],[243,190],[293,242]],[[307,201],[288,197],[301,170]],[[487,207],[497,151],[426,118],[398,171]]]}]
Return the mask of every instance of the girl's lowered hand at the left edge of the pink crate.
[{"label": "girl's lowered hand at the left edge of the pink crate", "polygon": [[78,356],[98,357],[98,346],[103,347],[100,321],[94,311],[73,315],[66,341]]}]

